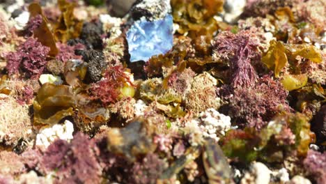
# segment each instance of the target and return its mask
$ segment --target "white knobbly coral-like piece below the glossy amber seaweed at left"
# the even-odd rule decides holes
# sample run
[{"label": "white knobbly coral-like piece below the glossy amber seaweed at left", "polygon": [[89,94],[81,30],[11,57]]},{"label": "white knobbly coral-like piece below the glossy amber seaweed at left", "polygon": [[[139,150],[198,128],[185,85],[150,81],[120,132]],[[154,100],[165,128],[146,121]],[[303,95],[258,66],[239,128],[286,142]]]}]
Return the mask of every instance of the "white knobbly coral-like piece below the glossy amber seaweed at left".
[{"label": "white knobbly coral-like piece below the glossy amber seaweed at left", "polygon": [[55,124],[50,127],[47,126],[45,128],[41,128],[38,135],[36,135],[36,146],[47,148],[47,146],[49,146],[56,139],[70,141],[74,138],[72,137],[72,132],[74,132],[74,125],[72,125],[72,123],[68,120],[66,120],[63,124]]}]

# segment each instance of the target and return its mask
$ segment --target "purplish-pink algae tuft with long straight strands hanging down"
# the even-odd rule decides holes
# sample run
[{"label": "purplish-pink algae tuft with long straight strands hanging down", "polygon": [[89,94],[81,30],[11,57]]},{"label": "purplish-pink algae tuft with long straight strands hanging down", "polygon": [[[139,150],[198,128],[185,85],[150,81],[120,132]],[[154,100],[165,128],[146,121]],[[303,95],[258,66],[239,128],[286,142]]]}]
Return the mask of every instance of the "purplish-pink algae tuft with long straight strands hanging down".
[{"label": "purplish-pink algae tuft with long straight strands hanging down", "polygon": [[251,61],[260,59],[259,40],[251,30],[219,33],[212,41],[213,59],[228,62],[232,86],[251,86],[258,75]]}]

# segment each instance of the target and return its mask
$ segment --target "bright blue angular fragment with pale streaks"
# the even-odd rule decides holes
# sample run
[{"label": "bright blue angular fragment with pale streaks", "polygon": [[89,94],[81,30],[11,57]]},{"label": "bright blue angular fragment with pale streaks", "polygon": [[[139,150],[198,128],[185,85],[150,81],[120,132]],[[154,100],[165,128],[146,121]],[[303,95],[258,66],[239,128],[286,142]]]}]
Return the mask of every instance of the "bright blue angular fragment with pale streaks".
[{"label": "bright blue angular fragment with pale streaks", "polygon": [[138,20],[127,31],[130,61],[148,61],[151,56],[165,54],[173,46],[173,17],[149,22]]}]

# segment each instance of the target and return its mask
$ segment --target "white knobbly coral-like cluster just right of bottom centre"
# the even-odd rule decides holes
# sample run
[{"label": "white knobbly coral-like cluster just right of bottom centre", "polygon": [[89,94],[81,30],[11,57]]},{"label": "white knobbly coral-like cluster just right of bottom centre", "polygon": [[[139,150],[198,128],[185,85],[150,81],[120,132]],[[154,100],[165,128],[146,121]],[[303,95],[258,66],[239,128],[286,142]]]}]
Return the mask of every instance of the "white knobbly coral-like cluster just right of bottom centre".
[{"label": "white knobbly coral-like cluster just right of bottom centre", "polygon": [[210,137],[219,141],[219,137],[231,128],[231,118],[220,114],[215,109],[207,109],[199,114],[201,119],[200,128],[203,130],[204,137]]}]

